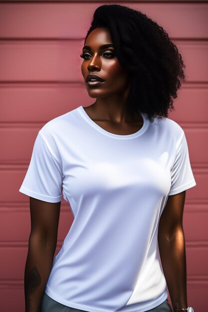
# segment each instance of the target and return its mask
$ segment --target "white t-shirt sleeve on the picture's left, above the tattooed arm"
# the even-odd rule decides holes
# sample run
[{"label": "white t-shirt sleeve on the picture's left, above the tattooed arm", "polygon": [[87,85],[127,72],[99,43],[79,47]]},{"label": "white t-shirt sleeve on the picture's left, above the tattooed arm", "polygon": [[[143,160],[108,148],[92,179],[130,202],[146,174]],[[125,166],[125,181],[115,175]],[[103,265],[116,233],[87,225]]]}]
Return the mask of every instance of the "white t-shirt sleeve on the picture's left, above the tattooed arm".
[{"label": "white t-shirt sleeve on the picture's left, above the tattooed arm", "polygon": [[62,199],[62,169],[47,141],[38,133],[19,192],[47,202]]}]

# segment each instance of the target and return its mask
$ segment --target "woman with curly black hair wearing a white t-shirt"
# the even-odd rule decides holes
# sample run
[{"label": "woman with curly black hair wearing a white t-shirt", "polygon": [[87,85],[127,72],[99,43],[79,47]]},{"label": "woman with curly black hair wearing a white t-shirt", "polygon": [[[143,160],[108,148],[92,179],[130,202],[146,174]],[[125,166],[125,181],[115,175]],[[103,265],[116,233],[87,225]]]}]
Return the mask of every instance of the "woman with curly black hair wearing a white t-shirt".
[{"label": "woman with curly black hair wearing a white t-shirt", "polygon": [[[30,196],[26,312],[170,312],[167,286],[174,312],[188,311],[182,217],[196,181],[167,118],[181,55],[156,22],[112,4],[96,9],[80,56],[96,101],[42,127],[19,189]],[[62,191],[74,220],[53,259]]]}]

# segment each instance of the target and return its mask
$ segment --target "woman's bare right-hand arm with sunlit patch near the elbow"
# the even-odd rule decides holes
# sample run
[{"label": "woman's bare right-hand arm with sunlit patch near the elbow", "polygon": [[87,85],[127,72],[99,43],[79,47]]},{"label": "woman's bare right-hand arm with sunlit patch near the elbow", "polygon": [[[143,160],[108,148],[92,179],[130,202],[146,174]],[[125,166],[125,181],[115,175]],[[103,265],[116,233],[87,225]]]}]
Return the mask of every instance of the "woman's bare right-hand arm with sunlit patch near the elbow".
[{"label": "woman's bare right-hand arm with sunlit patch near the elbow", "polygon": [[188,308],[183,211],[186,191],[168,197],[160,218],[158,245],[173,309]]}]

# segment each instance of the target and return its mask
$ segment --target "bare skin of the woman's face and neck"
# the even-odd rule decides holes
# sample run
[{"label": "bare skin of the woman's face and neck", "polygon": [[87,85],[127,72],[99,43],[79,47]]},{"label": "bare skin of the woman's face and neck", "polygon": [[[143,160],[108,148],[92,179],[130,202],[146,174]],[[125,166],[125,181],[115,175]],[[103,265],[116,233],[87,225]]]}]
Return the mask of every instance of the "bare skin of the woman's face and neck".
[{"label": "bare skin of the woman's face and neck", "polygon": [[[141,115],[130,115],[126,111],[125,100],[129,94],[129,73],[121,66],[114,47],[100,49],[104,44],[112,44],[109,30],[101,27],[94,29],[87,37],[83,47],[84,60],[81,72],[88,95],[96,101],[85,107],[89,117],[101,128],[118,135],[137,132],[143,126]],[[86,77],[97,74],[105,80],[98,87],[88,86]]]}]

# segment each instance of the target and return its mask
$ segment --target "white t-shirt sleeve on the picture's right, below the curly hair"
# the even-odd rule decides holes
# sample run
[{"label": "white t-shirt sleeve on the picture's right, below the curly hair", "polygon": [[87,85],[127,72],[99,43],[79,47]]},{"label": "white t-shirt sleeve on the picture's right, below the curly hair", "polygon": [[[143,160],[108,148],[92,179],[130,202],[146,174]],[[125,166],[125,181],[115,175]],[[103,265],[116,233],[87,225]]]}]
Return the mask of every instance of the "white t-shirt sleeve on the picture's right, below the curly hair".
[{"label": "white t-shirt sleeve on the picture's right, below the curly hair", "polygon": [[168,195],[175,195],[197,185],[189,158],[189,149],[185,133],[177,149],[171,169],[171,188]]}]

